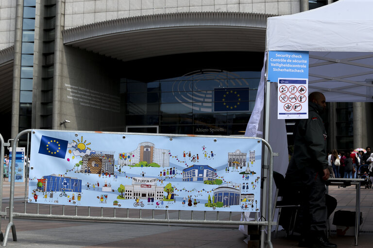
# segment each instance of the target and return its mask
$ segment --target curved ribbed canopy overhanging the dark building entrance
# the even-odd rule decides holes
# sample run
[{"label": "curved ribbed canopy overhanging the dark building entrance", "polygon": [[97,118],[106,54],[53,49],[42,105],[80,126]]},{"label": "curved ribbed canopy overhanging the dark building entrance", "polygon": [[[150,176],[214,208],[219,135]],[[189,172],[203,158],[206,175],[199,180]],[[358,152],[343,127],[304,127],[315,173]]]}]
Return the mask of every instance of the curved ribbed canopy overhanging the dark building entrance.
[{"label": "curved ribbed canopy overhanging the dark building entrance", "polygon": [[267,18],[251,13],[176,13],[64,30],[65,45],[122,61],[211,51],[264,51]]}]

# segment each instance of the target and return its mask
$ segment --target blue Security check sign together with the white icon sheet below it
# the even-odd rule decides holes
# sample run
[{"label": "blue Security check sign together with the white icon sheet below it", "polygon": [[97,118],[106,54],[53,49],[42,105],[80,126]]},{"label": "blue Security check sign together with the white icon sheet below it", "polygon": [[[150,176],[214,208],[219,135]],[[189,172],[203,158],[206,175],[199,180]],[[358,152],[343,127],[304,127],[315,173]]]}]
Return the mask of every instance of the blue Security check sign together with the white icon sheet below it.
[{"label": "blue Security check sign together with the white icon sheet below it", "polygon": [[268,80],[277,82],[277,118],[308,118],[308,52],[269,51]]}]

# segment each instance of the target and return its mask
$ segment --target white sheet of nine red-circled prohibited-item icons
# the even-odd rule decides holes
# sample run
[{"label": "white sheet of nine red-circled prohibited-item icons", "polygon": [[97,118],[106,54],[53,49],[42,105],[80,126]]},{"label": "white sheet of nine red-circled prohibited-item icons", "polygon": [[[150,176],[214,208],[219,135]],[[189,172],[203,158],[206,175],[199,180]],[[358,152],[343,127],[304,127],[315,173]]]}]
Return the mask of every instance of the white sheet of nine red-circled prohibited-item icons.
[{"label": "white sheet of nine red-circled prohibited-item icons", "polygon": [[278,78],[278,119],[308,118],[308,79]]}]

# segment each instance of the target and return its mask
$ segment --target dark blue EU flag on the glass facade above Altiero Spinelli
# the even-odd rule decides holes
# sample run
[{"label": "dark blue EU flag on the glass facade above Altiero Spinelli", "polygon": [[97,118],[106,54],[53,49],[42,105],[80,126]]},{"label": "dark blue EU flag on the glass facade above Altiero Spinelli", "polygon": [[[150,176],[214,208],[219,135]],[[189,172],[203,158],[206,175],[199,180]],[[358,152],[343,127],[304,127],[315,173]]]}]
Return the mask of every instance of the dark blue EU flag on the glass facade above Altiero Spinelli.
[{"label": "dark blue EU flag on the glass facade above Altiero Spinelli", "polygon": [[215,88],[214,111],[248,111],[249,88]]}]

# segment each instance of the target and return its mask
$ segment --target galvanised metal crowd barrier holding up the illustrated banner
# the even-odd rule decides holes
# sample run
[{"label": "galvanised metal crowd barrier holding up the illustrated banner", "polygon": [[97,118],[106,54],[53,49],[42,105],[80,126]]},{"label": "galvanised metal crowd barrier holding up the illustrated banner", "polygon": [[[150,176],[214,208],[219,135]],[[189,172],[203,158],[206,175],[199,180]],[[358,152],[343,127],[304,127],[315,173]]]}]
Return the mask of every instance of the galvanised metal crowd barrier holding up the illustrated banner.
[{"label": "galvanised metal crowd barrier holding up the illustrated banner", "polygon": [[[16,151],[17,148],[17,142],[18,140],[23,136],[27,135],[27,152],[26,154],[29,155],[28,153],[28,148],[30,146],[29,142],[29,137],[30,133],[32,132],[31,129],[21,131],[18,133],[17,137],[15,138],[13,145],[12,145],[12,150]],[[119,209],[119,211],[116,208],[112,208],[113,214],[112,217],[107,216],[105,212],[104,216],[104,210],[106,211],[107,208],[103,207],[87,207],[87,212],[85,213],[86,215],[78,215],[81,211],[84,210],[84,207],[78,207],[78,206],[66,206],[62,205],[51,205],[49,204],[49,207],[47,207],[47,204],[36,204],[36,213],[27,213],[27,187],[28,187],[28,166],[26,166],[26,177],[25,177],[25,202],[24,202],[24,212],[23,213],[17,213],[14,211],[14,206],[15,206],[15,161],[16,159],[12,159],[11,163],[11,173],[10,173],[10,178],[11,178],[11,183],[10,183],[10,199],[9,199],[9,214],[7,215],[9,217],[9,223],[7,225],[6,231],[4,235],[0,231],[1,235],[1,241],[3,241],[2,246],[6,246],[8,242],[8,235],[10,230],[12,229],[12,235],[13,235],[13,241],[17,241],[17,233],[16,233],[16,227],[13,222],[13,219],[16,217],[18,218],[40,218],[40,219],[67,219],[67,220],[90,220],[90,221],[119,221],[119,222],[146,222],[146,223],[168,223],[168,224],[174,224],[174,223],[179,223],[179,224],[220,224],[220,225],[248,225],[248,226],[258,226],[259,227],[267,227],[267,230],[271,230],[271,226],[275,223],[272,223],[272,172],[273,172],[273,152],[271,149],[271,145],[263,139],[260,138],[248,138],[248,139],[255,139],[255,140],[261,140],[262,144],[264,144],[267,149],[268,149],[268,154],[269,154],[269,166],[264,166],[263,164],[265,163],[264,159],[262,159],[262,170],[265,170],[263,172],[264,178],[266,178],[266,172],[268,172],[268,179],[266,182],[264,181],[265,179],[263,178],[263,183],[267,184],[268,187],[268,194],[266,192],[263,192],[261,190],[261,195],[262,199],[268,198],[267,202],[268,204],[261,204],[261,215],[262,217],[258,217],[258,212],[255,213],[255,220],[254,221],[246,221],[246,220],[238,220],[237,217],[241,217],[242,219],[245,219],[244,213],[238,213],[238,212],[209,212],[209,211],[188,211],[188,210],[174,210],[174,211],[169,211],[166,207],[166,210],[136,210],[136,209]],[[3,177],[3,162],[4,162],[4,147],[3,147],[3,139],[0,135],[0,172],[1,172],[1,182],[0,182],[0,210],[2,209],[2,177]],[[32,158],[31,158],[32,159]],[[26,160],[26,163],[28,161]],[[268,171],[266,171],[268,169]],[[30,204],[29,204],[30,205]],[[39,205],[44,205],[42,207],[39,207]],[[52,206],[54,207],[53,211],[55,212],[55,209],[58,209],[61,211],[61,214],[52,214]],[[99,210],[99,211],[98,211]],[[120,212],[122,211],[122,212]],[[123,213],[124,211],[124,213]],[[137,212],[139,211],[139,212]],[[68,214],[67,214],[68,212]],[[99,216],[92,216],[92,212],[95,212],[99,214]],[[138,217],[134,217],[135,213],[138,213]],[[190,217],[186,217],[186,213],[190,212]],[[202,212],[202,213],[198,213]],[[161,213],[164,213],[164,217],[159,218],[159,216],[163,216]],[[236,214],[235,214],[236,213]],[[5,213],[6,214],[6,213]],[[149,216],[149,217],[143,217]],[[216,216],[214,216],[216,215]],[[150,217],[151,216],[151,217]],[[170,218],[174,217],[174,218]],[[185,218],[184,218],[185,217]],[[223,220],[223,219],[228,219],[228,220]],[[236,219],[234,219],[236,218]],[[265,220],[262,221],[261,219],[264,218]],[[0,220],[1,221],[1,220]],[[1,222],[0,222],[1,224]],[[261,230],[264,231],[264,230]],[[264,232],[262,232],[262,239],[264,239]],[[268,231],[265,237],[264,245],[266,247],[272,248],[271,244],[271,231]]]}]

